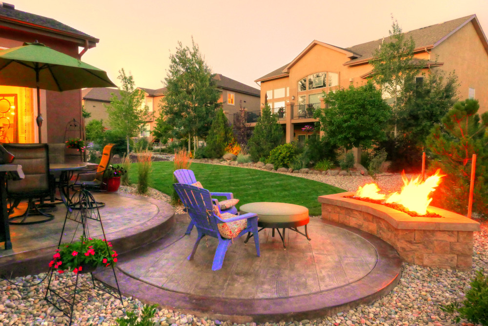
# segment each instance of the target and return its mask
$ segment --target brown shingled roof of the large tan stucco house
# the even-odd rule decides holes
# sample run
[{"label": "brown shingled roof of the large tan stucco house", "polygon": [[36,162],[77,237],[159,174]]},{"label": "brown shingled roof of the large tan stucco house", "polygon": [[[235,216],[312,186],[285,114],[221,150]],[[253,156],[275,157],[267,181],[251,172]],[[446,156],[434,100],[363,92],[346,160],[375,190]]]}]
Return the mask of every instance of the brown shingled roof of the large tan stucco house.
[{"label": "brown shingled roof of the large tan stucco house", "polygon": [[[473,22],[474,27],[476,29],[476,32],[477,32],[478,36],[480,37],[480,39],[483,43],[483,46],[485,47],[485,49],[488,52],[488,41],[487,41],[485,34],[483,33],[483,30],[481,29],[481,25],[480,25],[478,19],[476,18],[476,15],[470,15],[470,16],[461,17],[458,19],[449,20],[449,21],[446,21],[443,23],[439,23],[439,24],[435,24],[435,25],[431,25],[431,26],[427,26],[427,27],[422,27],[422,28],[419,28],[419,29],[416,29],[416,30],[413,30],[410,32],[406,32],[405,35],[407,36],[407,38],[412,37],[413,41],[415,42],[416,51],[421,51],[421,50],[433,48],[433,47],[439,45],[445,39],[447,39],[449,36],[451,36],[456,31],[458,31],[460,28],[462,28],[463,26],[468,24],[470,21]],[[374,41],[354,45],[354,46],[351,46],[351,47],[344,49],[344,48],[340,48],[337,46],[333,46],[330,44],[326,44],[326,43],[322,43],[322,42],[314,40],[292,62],[285,64],[283,67],[278,68],[278,69],[270,72],[269,74],[266,74],[263,77],[256,79],[255,81],[271,80],[271,79],[275,79],[275,78],[288,76],[289,68],[294,64],[294,62],[296,62],[297,60],[302,58],[305,55],[306,51],[310,50],[316,44],[320,44],[320,45],[323,45],[323,46],[326,46],[329,48],[334,48],[338,51],[343,50],[343,52],[349,58],[351,58],[351,60],[346,61],[344,63],[344,65],[353,65],[353,64],[362,64],[362,63],[368,62],[369,59],[371,59],[373,57],[375,50],[379,49],[380,45],[383,42],[390,42],[390,41],[391,41],[390,37],[381,38],[381,39],[377,39]],[[348,53],[350,53],[351,55],[348,55]]]}]

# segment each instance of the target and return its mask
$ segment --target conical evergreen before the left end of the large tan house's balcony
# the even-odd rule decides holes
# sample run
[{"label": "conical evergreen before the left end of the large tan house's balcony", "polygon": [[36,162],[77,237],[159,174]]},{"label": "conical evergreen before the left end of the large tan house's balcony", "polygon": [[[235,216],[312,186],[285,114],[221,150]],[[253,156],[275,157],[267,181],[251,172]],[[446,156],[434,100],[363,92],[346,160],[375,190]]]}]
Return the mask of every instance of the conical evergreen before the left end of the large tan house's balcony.
[{"label": "conical evergreen before the left end of the large tan house's balcony", "polygon": [[266,104],[256,122],[254,133],[247,143],[249,154],[255,161],[267,158],[269,152],[281,144],[282,139],[283,129],[278,124],[278,118],[271,115],[271,108]]}]

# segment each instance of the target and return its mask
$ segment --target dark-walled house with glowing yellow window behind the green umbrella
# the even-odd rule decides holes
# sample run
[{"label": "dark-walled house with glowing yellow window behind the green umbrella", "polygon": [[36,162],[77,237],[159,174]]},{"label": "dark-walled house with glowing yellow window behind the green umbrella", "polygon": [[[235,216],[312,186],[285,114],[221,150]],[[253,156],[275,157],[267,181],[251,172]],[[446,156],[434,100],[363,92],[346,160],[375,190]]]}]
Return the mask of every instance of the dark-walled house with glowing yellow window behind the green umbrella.
[{"label": "dark-walled house with glowing yellow window behind the green umbrella", "polygon": [[[0,48],[17,47],[35,40],[78,59],[99,42],[98,38],[55,19],[27,13],[15,9],[12,4],[0,2]],[[0,104],[7,109],[0,110],[0,120],[4,121],[0,131],[1,141],[39,141],[38,126],[35,123],[38,112],[36,96],[35,89],[0,85]],[[44,118],[41,140],[48,143],[63,142],[69,121],[81,121],[81,90],[61,93],[41,90],[40,96],[41,114]]]}]

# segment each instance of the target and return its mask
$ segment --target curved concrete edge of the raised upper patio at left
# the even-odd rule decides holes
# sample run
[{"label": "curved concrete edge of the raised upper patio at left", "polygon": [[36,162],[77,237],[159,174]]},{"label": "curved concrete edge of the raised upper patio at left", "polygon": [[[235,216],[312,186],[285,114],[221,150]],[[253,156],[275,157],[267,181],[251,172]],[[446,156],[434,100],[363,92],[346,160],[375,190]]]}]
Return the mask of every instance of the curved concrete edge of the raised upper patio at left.
[{"label": "curved concrete edge of the raised upper patio at left", "polygon": [[[107,234],[118,253],[123,254],[161,239],[175,224],[175,211],[168,203],[126,193],[118,195],[148,201],[158,208],[157,213],[144,223]],[[57,245],[0,257],[0,273],[10,278],[46,272],[47,262],[55,249]]]}]

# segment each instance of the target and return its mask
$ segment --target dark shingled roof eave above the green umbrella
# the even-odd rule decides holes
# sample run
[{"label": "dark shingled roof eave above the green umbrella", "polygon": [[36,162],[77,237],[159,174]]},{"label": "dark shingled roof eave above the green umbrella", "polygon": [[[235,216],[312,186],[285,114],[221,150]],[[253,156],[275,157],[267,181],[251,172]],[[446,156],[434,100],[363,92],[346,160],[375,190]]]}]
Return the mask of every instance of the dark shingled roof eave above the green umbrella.
[{"label": "dark shingled roof eave above the green umbrella", "polygon": [[56,19],[17,10],[15,9],[14,5],[8,3],[1,3],[0,5],[0,21],[14,23],[17,25],[27,25],[32,28],[48,30],[58,34],[76,36],[78,38],[99,42],[98,38],[94,38],[93,36],[74,29],[73,27],[65,25]]}]

